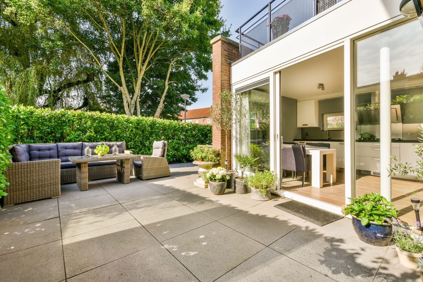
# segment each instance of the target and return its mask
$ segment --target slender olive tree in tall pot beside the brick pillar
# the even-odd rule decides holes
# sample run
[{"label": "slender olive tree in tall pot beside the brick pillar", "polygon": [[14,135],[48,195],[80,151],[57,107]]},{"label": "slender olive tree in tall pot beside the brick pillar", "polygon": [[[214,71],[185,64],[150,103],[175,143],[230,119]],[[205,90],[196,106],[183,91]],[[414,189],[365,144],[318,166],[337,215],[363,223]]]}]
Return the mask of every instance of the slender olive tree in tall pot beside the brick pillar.
[{"label": "slender olive tree in tall pot beside the brick pillar", "polygon": [[[220,102],[217,102],[210,109],[213,126],[217,130],[225,131],[225,169],[228,169],[228,132],[231,132],[233,125],[238,122],[241,115],[241,108],[238,103],[240,95],[231,91],[223,91],[220,93]],[[229,170],[228,175],[229,180],[226,188],[231,189],[235,171]]]}]

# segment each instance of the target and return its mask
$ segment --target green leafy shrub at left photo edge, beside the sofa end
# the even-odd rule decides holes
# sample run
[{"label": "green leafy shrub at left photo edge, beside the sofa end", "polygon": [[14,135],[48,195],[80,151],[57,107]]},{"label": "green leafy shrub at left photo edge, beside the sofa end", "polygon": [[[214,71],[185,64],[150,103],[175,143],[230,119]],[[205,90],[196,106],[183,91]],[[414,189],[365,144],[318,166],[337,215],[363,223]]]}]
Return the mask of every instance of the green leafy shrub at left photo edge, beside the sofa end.
[{"label": "green leafy shrub at left photo edge, beside the sofa end", "polygon": [[5,189],[9,185],[3,172],[11,166],[11,156],[5,151],[9,149],[8,145],[12,144],[13,130],[12,108],[0,85],[0,197],[7,195]]}]

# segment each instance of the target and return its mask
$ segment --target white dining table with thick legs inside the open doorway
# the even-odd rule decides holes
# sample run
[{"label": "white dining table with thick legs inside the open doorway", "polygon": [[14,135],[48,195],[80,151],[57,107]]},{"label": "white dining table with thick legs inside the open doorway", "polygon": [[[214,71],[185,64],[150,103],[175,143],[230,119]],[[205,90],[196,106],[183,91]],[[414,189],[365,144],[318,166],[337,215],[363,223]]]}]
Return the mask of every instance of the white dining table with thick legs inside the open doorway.
[{"label": "white dining table with thick legs inside the open doorway", "polygon": [[336,182],[336,149],[305,148],[311,155],[311,186],[323,187],[323,155],[326,155],[326,181]]}]

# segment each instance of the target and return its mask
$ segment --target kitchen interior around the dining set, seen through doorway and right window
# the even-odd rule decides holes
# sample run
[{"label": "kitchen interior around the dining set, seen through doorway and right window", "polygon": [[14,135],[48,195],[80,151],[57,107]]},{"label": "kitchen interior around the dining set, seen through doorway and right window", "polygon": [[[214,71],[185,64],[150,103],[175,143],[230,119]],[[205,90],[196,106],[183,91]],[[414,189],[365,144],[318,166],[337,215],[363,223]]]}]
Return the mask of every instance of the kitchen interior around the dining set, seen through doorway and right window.
[{"label": "kitchen interior around the dining set, seen through doorway and right window", "polygon": [[[418,87],[410,89],[408,85],[413,79],[420,81],[414,83]],[[422,74],[406,79],[406,74],[398,71],[391,80],[391,153],[408,163],[418,160],[414,149],[419,144],[419,127],[423,123],[423,97],[420,100],[412,97],[422,96],[422,79]],[[331,205],[344,205],[343,47],[283,69],[281,96],[283,142],[330,144],[331,149],[336,149],[337,174],[336,182],[324,181],[322,188],[316,188],[311,185],[311,173],[306,174],[302,187],[302,173],[293,178],[288,171],[284,173],[281,189]],[[356,195],[380,193],[380,171],[386,168],[380,166],[379,83],[357,87],[355,97]],[[415,175],[396,174],[391,183],[392,201],[401,210],[400,218],[412,221],[409,199],[423,199],[423,185],[416,181]]]}]

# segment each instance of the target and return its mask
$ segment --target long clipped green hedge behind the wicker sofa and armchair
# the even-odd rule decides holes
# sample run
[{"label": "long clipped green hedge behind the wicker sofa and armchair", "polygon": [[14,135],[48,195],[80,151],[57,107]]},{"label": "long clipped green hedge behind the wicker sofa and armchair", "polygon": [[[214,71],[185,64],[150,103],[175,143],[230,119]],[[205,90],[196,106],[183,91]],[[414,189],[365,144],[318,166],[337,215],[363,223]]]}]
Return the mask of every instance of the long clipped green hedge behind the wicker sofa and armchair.
[{"label": "long clipped green hedge behind the wicker sofa and armchair", "polygon": [[85,111],[18,106],[15,143],[125,141],[134,154],[151,155],[153,141],[168,141],[170,163],[190,161],[190,150],[211,144],[211,126]]}]

